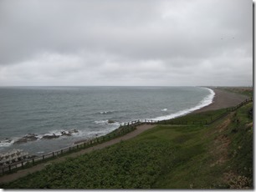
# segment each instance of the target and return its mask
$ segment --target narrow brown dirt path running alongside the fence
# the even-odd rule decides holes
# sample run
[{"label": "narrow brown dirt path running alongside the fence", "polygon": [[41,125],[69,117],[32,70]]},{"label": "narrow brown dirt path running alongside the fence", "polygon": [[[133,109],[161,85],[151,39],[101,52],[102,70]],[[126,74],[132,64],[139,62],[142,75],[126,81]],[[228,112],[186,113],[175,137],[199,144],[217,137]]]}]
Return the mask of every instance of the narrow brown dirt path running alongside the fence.
[{"label": "narrow brown dirt path running alongside the fence", "polygon": [[47,163],[44,163],[44,164],[38,164],[38,165],[35,165],[35,166],[33,166],[31,168],[28,168],[28,169],[19,170],[17,173],[14,173],[14,174],[4,175],[4,176],[0,177],[0,184],[13,181],[15,179],[24,177],[27,174],[32,174],[33,172],[36,172],[36,171],[41,170],[41,169],[44,169],[46,164],[64,161],[64,159],[66,159],[68,157],[76,157],[76,156],[79,156],[81,154],[89,153],[90,151],[93,151],[93,150],[96,150],[96,149],[103,149],[103,148],[108,147],[108,146],[110,146],[112,144],[117,144],[121,140],[127,140],[127,139],[134,138],[134,137],[136,137],[136,135],[141,134],[142,132],[146,131],[147,129],[151,129],[154,126],[156,126],[156,125],[142,124],[140,126],[137,126],[136,130],[132,131],[129,134],[125,134],[124,136],[121,136],[119,138],[111,139],[110,141],[107,141],[107,142],[102,143],[102,144],[95,145],[95,146],[87,148],[87,149],[82,149],[82,150],[80,150],[80,151],[78,151],[76,153],[68,154],[68,155],[66,155],[64,157],[61,157],[59,159],[50,160],[50,161],[48,161]]}]

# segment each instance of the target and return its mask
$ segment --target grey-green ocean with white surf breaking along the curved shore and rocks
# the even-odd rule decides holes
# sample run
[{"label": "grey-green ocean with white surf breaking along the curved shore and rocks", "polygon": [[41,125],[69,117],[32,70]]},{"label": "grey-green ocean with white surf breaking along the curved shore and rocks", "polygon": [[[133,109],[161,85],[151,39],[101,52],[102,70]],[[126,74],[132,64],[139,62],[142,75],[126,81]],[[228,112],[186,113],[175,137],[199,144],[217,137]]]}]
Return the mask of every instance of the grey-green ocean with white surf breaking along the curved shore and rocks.
[{"label": "grey-green ocean with white surf breaking along the curved shore and rocks", "polygon": [[[12,149],[47,154],[132,120],[191,113],[211,104],[213,96],[211,89],[201,87],[2,87],[0,154]],[[37,139],[17,143],[28,134]],[[58,138],[43,139],[53,134]]]}]

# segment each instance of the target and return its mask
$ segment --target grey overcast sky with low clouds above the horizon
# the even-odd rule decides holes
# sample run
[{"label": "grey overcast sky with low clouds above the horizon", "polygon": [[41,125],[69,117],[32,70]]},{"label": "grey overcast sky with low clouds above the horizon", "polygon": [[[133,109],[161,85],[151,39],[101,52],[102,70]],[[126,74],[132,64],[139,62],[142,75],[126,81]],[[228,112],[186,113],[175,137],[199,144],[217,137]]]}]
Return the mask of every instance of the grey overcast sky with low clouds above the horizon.
[{"label": "grey overcast sky with low clouds above the horizon", "polygon": [[252,84],[251,0],[0,1],[0,86]]}]

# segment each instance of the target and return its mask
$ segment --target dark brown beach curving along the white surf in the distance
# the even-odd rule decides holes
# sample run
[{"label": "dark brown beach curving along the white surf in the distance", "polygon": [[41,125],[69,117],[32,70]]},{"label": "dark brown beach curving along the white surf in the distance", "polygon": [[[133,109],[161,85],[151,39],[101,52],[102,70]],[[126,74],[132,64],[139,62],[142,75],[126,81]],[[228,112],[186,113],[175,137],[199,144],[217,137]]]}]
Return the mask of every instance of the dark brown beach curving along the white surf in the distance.
[{"label": "dark brown beach curving along the white surf in the distance", "polygon": [[245,99],[248,99],[248,96],[246,96],[246,95],[242,95],[242,94],[238,94],[238,93],[231,93],[231,92],[219,89],[219,88],[211,88],[211,89],[215,93],[212,104],[209,104],[202,109],[198,109],[198,110],[194,111],[193,113],[200,113],[200,112],[204,112],[204,111],[233,107],[233,106],[243,102]]}]

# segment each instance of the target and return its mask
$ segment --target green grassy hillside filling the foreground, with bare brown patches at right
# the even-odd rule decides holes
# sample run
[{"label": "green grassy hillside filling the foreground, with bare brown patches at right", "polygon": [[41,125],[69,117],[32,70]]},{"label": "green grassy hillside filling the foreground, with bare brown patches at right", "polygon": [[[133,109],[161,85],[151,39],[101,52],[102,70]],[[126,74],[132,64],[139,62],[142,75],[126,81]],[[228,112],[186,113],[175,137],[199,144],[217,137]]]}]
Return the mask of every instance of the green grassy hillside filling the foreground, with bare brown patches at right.
[{"label": "green grassy hillside filling the foreground, with bare brown patches at right", "polygon": [[[253,188],[253,119],[247,104],[209,126],[162,124],[135,139],[46,169],[1,187],[54,189]],[[221,111],[190,114],[209,119]]]}]

